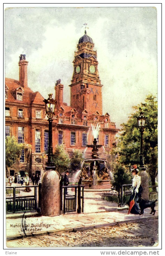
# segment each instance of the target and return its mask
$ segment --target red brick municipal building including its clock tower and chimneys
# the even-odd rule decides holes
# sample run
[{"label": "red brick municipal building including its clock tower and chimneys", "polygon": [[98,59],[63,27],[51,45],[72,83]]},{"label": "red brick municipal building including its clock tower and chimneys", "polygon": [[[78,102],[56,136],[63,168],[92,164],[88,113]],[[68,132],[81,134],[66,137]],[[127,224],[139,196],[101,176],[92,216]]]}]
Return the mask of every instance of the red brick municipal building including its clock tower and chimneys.
[{"label": "red brick municipal building including its clock tower and chimneys", "polygon": [[[57,106],[52,122],[53,150],[56,145],[64,144],[72,155],[74,149],[84,151],[91,144],[93,136],[91,124],[100,124],[98,144],[106,151],[113,147],[117,133],[115,123],[110,115],[102,110],[102,87],[98,73],[97,53],[93,49],[92,39],[86,34],[80,38],[74,56],[73,78],[70,86],[70,106],[63,102],[61,80],[55,84]],[[15,136],[18,142],[26,142],[29,147],[22,152],[18,163],[10,168],[10,173],[21,171],[29,175],[43,170],[47,160],[45,152],[48,147],[48,121],[45,115],[44,98],[39,92],[32,92],[28,87],[25,55],[20,56],[19,81],[5,80],[5,116],[6,136]],[[52,93],[52,92],[50,92]],[[31,146],[30,146],[31,145]],[[90,151],[86,154],[89,156]]]}]

